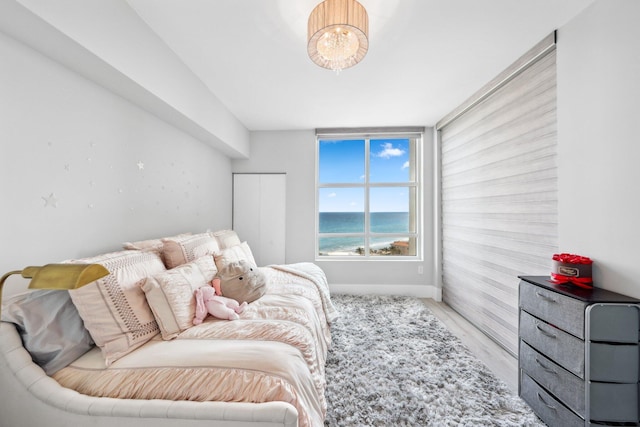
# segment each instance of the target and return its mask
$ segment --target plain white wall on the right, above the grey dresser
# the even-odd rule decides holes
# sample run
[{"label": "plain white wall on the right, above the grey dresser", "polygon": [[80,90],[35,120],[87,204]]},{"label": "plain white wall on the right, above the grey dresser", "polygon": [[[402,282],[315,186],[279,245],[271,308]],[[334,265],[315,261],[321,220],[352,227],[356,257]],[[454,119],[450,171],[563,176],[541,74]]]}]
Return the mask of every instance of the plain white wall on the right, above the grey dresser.
[{"label": "plain white wall on the right, above the grey dresser", "polygon": [[640,298],[640,2],[598,0],[558,32],[560,250]]}]

